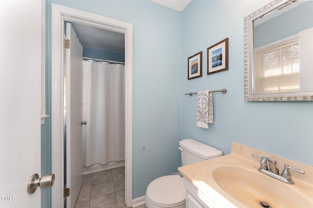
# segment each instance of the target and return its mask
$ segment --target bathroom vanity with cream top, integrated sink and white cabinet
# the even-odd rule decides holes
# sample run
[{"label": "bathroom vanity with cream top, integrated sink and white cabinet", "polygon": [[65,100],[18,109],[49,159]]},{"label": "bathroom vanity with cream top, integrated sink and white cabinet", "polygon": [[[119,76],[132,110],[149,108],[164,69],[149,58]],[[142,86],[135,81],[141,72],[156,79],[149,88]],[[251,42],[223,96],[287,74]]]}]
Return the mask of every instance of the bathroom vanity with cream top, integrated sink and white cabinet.
[{"label": "bathroom vanity with cream top, integrated sink and white cabinet", "polygon": [[[252,154],[277,161],[279,177],[285,164],[305,174],[290,170],[294,184],[284,183],[260,171],[262,158]],[[245,145],[232,143],[230,154],[178,170],[184,176],[188,208],[313,207],[313,166]]]}]

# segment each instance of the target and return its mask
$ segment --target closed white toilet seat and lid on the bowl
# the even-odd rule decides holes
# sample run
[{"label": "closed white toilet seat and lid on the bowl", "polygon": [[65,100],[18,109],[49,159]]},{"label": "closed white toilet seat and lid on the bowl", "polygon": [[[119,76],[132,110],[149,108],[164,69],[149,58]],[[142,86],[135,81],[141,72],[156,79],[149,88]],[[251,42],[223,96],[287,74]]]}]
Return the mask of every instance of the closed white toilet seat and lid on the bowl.
[{"label": "closed white toilet seat and lid on the bowl", "polygon": [[159,207],[177,207],[186,201],[186,189],[179,175],[166,175],[152,181],[146,192],[149,201]]}]

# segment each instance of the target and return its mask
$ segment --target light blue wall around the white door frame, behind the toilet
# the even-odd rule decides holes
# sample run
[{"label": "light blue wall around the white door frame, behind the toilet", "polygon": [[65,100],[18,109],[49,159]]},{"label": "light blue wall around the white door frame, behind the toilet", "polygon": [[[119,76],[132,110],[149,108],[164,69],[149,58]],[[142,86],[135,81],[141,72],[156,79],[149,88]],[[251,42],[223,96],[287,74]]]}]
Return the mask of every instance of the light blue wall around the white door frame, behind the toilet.
[{"label": "light blue wall around the white door frame, behind the toilet", "polygon": [[48,76],[51,2],[133,24],[133,198],[143,196],[180,166],[181,13],[148,0],[49,0]]}]

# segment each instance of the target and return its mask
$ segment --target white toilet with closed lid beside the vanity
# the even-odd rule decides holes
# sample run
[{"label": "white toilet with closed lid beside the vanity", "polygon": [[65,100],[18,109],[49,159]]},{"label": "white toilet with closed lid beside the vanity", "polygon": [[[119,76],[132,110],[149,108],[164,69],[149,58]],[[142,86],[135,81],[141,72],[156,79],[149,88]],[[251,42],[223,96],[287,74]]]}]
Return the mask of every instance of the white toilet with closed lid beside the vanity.
[{"label": "white toilet with closed lid beside the vanity", "polygon": [[[222,156],[223,152],[193,139],[179,142],[182,165]],[[162,176],[152,181],[146,191],[148,208],[186,208],[186,189],[179,174]]]}]

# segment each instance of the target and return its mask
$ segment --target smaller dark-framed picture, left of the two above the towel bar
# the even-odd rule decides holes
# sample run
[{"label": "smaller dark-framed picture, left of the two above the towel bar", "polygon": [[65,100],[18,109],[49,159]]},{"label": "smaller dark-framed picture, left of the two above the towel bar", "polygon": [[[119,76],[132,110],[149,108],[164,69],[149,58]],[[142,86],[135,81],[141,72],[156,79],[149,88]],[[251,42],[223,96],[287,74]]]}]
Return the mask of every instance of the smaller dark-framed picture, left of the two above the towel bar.
[{"label": "smaller dark-framed picture, left of the two above the towel bar", "polygon": [[202,51],[188,58],[188,80],[202,76]]}]

